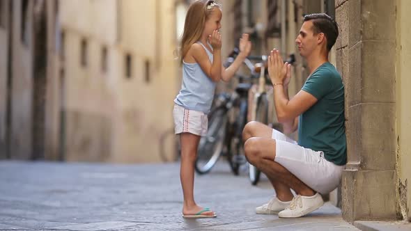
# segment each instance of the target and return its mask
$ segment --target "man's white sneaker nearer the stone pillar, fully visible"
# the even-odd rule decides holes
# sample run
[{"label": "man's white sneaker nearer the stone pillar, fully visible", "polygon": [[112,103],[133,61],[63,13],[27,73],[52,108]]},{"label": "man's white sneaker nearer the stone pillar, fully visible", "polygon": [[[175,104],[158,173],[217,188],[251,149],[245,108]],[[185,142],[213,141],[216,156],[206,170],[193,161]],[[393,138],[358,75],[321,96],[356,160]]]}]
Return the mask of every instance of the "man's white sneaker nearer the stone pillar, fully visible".
[{"label": "man's white sneaker nearer the stone pillar, fully visible", "polygon": [[295,218],[307,215],[324,205],[324,200],[319,193],[314,196],[297,195],[290,203],[290,206],[279,212],[281,218]]}]

